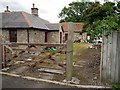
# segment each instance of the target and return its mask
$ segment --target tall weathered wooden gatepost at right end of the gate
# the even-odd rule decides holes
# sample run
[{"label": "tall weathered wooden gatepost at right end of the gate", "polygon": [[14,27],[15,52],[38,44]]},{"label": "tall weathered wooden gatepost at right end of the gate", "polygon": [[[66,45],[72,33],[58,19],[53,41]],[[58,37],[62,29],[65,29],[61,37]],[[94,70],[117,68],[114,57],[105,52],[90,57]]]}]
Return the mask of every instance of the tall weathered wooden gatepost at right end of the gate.
[{"label": "tall weathered wooden gatepost at right end of the gate", "polygon": [[67,40],[67,61],[66,61],[66,80],[72,79],[73,64],[73,23],[68,23],[68,40]]}]

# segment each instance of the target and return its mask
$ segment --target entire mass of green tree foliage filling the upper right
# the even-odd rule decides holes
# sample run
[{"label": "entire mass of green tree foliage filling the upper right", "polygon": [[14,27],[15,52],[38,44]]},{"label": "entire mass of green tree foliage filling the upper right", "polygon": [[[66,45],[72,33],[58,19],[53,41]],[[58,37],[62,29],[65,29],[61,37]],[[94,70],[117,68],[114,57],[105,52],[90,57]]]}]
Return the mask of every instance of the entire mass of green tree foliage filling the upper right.
[{"label": "entire mass of green tree foliage filling the upper right", "polygon": [[59,17],[66,22],[84,22],[84,30],[92,38],[105,36],[112,31],[120,30],[120,1],[105,2],[72,2],[64,7]]}]

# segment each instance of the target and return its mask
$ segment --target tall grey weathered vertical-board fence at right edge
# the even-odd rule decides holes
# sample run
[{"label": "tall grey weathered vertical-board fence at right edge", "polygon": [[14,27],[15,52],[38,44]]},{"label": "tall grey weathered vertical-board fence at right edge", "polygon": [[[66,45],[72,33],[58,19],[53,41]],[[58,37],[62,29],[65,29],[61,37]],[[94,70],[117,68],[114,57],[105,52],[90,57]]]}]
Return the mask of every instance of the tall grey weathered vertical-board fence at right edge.
[{"label": "tall grey weathered vertical-board fence at right edge", "polygon": [[102,82],[120,83],[120,32],[103,37],[100,71]]}]

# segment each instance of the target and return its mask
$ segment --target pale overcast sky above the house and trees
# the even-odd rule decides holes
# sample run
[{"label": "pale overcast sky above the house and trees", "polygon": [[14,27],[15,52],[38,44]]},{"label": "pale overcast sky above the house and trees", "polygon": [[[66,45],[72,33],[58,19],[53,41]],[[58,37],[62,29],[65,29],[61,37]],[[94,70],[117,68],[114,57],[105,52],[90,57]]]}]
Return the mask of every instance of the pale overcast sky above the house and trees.
[{"label": "pale overcast sky above the house and trees", "polygon": [[32,4],[35,3],[35,7],[39,9],[40,18],[46,19],[51,23],[58,23],[60,20],[58,14],[64,6],[67,6],[72,1],[80,0],[0,0],[0,12],[3,12],[6,6],[9,6],[11,11],[31,13]]}]

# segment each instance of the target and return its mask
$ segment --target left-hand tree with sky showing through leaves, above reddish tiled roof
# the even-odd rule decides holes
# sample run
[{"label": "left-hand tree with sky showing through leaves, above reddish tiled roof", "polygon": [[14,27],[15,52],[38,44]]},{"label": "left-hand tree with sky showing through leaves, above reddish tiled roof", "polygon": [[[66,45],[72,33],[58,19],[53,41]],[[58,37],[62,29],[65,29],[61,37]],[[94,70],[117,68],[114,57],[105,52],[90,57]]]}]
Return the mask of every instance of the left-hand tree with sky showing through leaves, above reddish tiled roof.
[{"label": "left-hand tree with sky showing through leaves, above reddish tiled roof", "polygon": [[83,12],[89,7],[92,2],[72,2],[69,7],[64,7],[59,14],[59,18],[66,22],[81,22],[83,21]]}]

